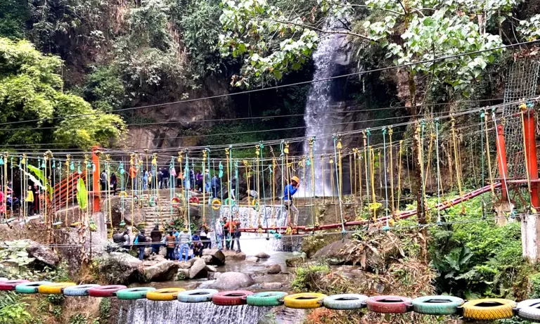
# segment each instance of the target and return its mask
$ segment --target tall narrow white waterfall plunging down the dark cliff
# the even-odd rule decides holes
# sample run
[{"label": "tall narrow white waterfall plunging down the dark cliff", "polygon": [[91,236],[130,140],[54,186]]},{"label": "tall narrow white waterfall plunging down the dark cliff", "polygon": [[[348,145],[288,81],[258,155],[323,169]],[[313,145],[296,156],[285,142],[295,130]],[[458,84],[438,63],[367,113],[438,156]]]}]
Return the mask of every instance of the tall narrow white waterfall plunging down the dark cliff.
[{"label": "tall narrow white waterfall plunging down the dark cliff", "polygon": [[[327,27],[332,27],[333,22],[327,23]],[[327,34],[317,47],[313,54],[313,60],[315,65],[315,72],[313,79],[325,79],[332,77],[336,71],[335,57],[338,55],[338,49],[340,44],[345,40],[343,34]],[[328,155],[328,153],[334,152],[334,145],[332,138],[320,138],[321,135],[333,134],[335,127],[333,124],[333,115],[328,114],[332,111],[332,81],[314,82],[311,84],[307,95],[307,103],[304,112],[304,122],[306,123],[306,136],[315,137],[314,143],[314,174],[315,174],[315,193],[312,190],[311,183],[311,169],[306,167],[306,174],[300,174],[302,184],[297,196],[311,197],[313,194],[316,196],[322,195],[335,195],[332,193],[332,186],[330,183],[331,169],[326,158],[323,163],[324,167],[324,179],[321,169],[321,154]],[[309,143],[304,143],[304,155],[309,157]],[[335,177],[334,177],[335,179]]]}]

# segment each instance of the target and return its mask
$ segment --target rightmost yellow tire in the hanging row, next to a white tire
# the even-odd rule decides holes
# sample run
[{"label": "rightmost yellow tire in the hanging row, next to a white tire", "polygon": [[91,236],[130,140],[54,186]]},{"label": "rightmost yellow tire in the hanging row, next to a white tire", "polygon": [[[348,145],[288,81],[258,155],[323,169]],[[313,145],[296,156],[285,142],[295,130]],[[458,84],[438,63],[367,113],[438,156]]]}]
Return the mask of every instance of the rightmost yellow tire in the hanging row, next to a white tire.
[{"label": "rightmost yellow tire in the hanging row, next to a white tire", "polygon": [[486,298],[463,304],[463,317],[471,320],[501,320],[513,316],[515,302],[510,299]]}]

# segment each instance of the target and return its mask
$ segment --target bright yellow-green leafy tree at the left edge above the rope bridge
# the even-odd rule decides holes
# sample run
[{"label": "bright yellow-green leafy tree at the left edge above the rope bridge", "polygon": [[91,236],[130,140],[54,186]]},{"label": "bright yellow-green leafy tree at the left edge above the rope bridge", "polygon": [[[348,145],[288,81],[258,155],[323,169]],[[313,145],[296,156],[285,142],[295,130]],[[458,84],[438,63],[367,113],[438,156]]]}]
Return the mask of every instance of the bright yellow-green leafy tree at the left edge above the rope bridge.
[{"label": "bright yellow-green leafy tree at the left edge above the rope bridge", "polygon": [[0,38],[0,122],[38,119],[6,126],[9,131],[0,132],[2,143],[55,141],[65,148],[88,147],[123,134],[125,125],[117,115],[50,119],[94,113],[82,98],[61,91],[61,65],[60,58],[44,56],[28,41]]}]

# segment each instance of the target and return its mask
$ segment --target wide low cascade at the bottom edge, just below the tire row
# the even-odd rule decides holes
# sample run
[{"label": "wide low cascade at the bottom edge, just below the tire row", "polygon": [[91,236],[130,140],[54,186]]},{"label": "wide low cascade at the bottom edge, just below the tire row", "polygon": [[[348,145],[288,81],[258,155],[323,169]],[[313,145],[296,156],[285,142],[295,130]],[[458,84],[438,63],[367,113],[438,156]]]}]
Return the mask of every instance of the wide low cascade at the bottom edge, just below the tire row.
[{"label": "wide low cascade at the bottom edge, just below the tire row", "polygon": [[126,302],[118,324],[257,324],[271,307],[217,306],[211,302],[186,304],[178,301],[153,302],[139,299]]}]

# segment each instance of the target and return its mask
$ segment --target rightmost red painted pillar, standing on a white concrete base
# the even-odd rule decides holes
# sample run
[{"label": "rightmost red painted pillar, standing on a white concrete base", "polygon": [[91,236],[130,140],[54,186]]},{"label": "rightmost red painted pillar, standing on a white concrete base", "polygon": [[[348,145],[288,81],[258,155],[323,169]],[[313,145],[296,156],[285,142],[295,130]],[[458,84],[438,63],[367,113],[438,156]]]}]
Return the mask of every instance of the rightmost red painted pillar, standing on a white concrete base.
[{"label": "rightmost red painted pillar, standing on a white concrete base", "polygon": [[525,152],[527,152],[527,167],[529,169],[529,179],[531,179],[531,205],[539,210],[540,198],[538,190],[538,162],[536,161],[536,134],[534,131],[534,111],[529,108],[522,109],[525,132]]}]

